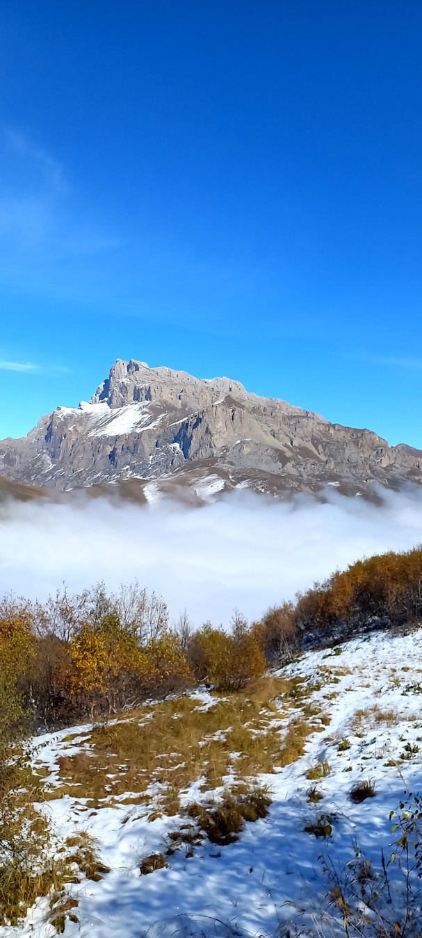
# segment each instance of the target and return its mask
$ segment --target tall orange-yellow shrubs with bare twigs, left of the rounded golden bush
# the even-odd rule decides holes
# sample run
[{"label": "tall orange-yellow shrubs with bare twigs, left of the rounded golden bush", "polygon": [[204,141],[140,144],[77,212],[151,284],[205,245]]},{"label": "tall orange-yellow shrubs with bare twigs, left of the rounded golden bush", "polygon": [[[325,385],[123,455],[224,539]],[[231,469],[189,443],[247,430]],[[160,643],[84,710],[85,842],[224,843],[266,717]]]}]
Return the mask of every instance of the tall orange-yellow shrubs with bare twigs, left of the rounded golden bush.
[{"label": "tall orange-yellow shrubs with bare twigs, left of the rounded golden bush", "polygon": [[[46,728],[97,717],[193,681],[167,607],[137,583],[108,594],[65,588],[46,603],[0,602],[0,684],[16,677],[28,715]],[[0,714],[1,720],[1,714]]]}]

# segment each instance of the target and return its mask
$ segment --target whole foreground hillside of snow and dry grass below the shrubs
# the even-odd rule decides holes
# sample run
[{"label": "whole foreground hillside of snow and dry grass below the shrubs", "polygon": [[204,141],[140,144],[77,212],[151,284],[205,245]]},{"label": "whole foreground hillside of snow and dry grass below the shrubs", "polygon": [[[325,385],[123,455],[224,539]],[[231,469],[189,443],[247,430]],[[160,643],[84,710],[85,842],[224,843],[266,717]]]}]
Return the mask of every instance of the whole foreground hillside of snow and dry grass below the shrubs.
[{"label": "whole foreground hillside of snow and dry grass below the shrubs", "polygon": [[[2,933],[50,938],[59,922],[68,938],[344,934],[339,898],[360,863],[363,913],[375,883],[391,928],[365,934],[416,934],[400,930],[409,890],[390,860],[389,815],[422,789],[421,694],[422,632],[371,634],[243,694],[194,691],[105,728],[38,737],[41,810],[56,855],[74,855],[74,882]],[[271,799],[267,813],[246,811],[232,842],[209,840],[206,812],[248,792]],[[88,875],[75,856],[87,844],[98,857]]]}]

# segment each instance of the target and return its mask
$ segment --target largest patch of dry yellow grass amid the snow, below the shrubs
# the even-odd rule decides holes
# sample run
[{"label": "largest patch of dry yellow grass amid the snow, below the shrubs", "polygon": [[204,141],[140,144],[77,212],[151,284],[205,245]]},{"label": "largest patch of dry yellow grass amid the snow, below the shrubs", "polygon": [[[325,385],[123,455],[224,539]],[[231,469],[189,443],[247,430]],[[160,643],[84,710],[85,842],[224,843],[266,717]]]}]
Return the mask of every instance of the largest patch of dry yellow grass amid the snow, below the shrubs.
[{"label": "largest patch of dry yellow grass amid the snow, below the shrubs", "polygon": [[326,722],[319,707],[309,707],[308,695],[302,678],[270,677],[206,708],[189,696],[144,707],[97,727],[86,737],[89,749],[63,755],[60,787],[45,797],[73,794],[88,799],[91,809],[126,794],[123,804],[139,804],[158,782],[154,809],[176,813],[180,792],[195,780],[209,791],[229,774],[255,777],[298,759],[309,734]]}]

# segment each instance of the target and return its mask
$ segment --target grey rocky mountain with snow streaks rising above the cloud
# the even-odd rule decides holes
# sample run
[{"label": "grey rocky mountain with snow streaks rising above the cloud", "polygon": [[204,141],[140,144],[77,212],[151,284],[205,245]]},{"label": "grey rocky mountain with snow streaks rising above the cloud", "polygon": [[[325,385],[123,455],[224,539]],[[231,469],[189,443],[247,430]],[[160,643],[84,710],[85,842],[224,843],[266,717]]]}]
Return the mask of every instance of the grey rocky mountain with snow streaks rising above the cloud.
[{"label": "grey rocky mountain with snow streaks rising above the cloud", "polygon": [[373,482],[420,484],[422,452],[257,397],[228,378],[118,359],[91,401],[57,407],[25,438],[1,441],[0,475],[62,491],[138,479],[148,499],[325,485],[366,494]]}]

